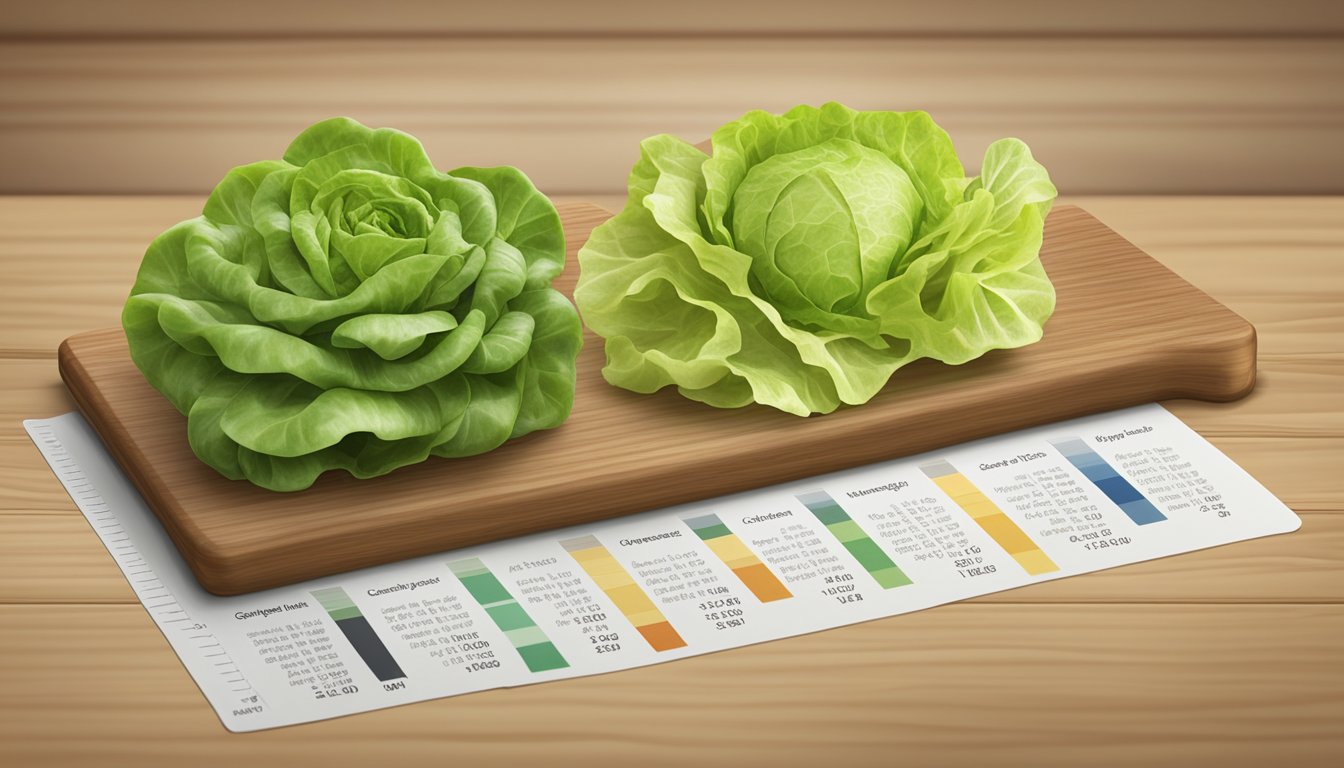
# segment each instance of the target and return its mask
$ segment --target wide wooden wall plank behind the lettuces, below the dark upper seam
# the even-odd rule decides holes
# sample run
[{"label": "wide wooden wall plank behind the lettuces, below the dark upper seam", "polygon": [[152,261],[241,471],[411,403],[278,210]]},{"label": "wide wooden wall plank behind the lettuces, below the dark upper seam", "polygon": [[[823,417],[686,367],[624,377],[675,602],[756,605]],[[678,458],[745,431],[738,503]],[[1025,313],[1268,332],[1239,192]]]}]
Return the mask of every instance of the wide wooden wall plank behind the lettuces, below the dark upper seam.
[{"label": "wide wooden wall plank behind the lettuces, below the dark upper seam", "polygon": [[418,135],[442,167],[513,164],[548,192],[612,194],[645,136],[695,140],[749,108],[827,100],[927,109],[972,168],[992,139],[1019,136],[1064,192],[1341,192],[1341,82],[1331,35],[11,36],[0,192],[199,192],[278,156],[306,124],[351,114]]}]

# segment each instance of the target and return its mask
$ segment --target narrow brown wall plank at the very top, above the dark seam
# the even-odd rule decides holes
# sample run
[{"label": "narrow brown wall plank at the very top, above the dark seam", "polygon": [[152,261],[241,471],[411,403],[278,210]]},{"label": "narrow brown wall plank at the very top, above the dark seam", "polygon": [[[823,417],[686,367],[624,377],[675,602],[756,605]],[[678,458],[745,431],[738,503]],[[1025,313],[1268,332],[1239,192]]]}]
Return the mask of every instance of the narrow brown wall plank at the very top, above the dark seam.
[{"label": "narrow brown wall plank at the very top, above the dark seam", "polygon": [[462,3],[438,0],[233,0],[227,13],[175,0],[44,0],[0,7],[0,31],[15,38],[314,38],[314,36],[668,36],[668,35],[1325,35],[1344,32],[1344,11],[1329,0],[804,0],[675,5],[586,0]]}]

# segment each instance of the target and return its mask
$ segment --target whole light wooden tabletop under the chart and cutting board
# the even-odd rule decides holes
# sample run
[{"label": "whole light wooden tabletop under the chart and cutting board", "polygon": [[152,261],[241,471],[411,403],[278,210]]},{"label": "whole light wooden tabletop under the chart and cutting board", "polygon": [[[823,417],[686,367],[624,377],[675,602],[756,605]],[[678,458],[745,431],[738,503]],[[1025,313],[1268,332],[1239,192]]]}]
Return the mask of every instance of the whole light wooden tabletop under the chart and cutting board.
[{"label": "whole light wooden tabletop under the chart and cutting board", "polygon": [[[598,199],[607,207],[620,200]],[[9,765],[1258,765],[1344,760],[1344,198],[1073,198],[1259,331],[1168,406],[1298,533],[640,670],[227,733],[28,443],[198,196],[0,198],[0,748]]]}]

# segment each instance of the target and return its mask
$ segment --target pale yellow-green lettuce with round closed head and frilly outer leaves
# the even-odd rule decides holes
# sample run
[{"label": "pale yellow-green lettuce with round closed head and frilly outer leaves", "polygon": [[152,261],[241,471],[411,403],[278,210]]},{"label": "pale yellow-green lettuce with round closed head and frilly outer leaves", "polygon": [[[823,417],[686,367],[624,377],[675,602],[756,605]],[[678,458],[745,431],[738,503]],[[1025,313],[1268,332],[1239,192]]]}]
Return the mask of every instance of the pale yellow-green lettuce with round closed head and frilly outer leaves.
[{"label": "pale yellow-green lettuce with round closed head and frilly outer leaves", "polygon": [[1021,141],[966,178],[926,113],[827,104],[750,112],[711,144],[644,140],[625,208],[579,252],[607,382],[808,416],[918,358],[1040,339],[1055,187]]}]

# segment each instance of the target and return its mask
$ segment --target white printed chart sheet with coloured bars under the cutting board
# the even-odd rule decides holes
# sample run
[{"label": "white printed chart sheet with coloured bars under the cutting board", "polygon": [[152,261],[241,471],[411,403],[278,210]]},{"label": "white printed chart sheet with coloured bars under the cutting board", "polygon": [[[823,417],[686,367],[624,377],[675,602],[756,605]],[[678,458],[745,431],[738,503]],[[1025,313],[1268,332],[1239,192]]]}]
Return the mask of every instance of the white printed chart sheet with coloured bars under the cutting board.
[{"label": "white printed chart sheet with coloured bars under the cutting board", "polygon": [[653,664],[1300,525],[1149,405],[218,597],[78,414],[26,425],[231,730]]}]

